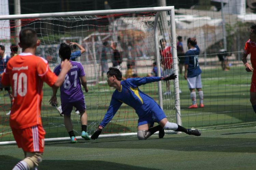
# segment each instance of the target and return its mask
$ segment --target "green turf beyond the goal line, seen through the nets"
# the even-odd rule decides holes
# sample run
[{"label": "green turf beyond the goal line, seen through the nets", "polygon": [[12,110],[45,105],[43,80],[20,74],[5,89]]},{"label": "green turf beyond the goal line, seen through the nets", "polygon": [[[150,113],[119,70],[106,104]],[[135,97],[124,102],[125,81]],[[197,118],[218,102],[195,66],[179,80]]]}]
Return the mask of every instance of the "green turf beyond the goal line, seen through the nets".
[{"label": "green turf beyond the goal line, seen through the nets", "polygon": [[[180,94],[181,118],[184,127],[247,127],[253,126],[256,115],[250,103],[250,83],[252,73],[247,73],[244,67],[233,67],[229,72],[221,69],[202,70],[201,78],[204,92],[204,108],[188,109],[191,105],[190,92],[187,81],[183,76],[179,77],[179,84],[182,93]],[[165,90],[165,84],[162,85]],[[158,102],[157,83],[141,86],[140,90],[150,95]],[[111,94],[114,89],[107,84],[90,85],[89,92],[85,93],[85,101],[88,114],[88,133],[92,134],[100,121],[103,119],[111,101]],[[42,120],[46,131],[46,138],[68,137],[63,124],[63,117],[60,117],[56,108],[48,104],[52,91],[47,85],[44,86],[42,102]],[[10,107],[9,97],[0,93],[0,132],[3,136],[0,141],[14,140],[9,127],[9,117],[5,116]],[[4,99],[4,100],[3,100]],[[199,104],[199,99],[197,98]],[[163,97],[163,109],[169,121],[175,122],[174,98]],[[72,114],[73,125],[76,135],[80,135],[81,125],[79,116]],[[103,130],[104,133],[126,133],[137,132],[138,116],[134,110],[123,104],[115,114],[113,121]]]}]

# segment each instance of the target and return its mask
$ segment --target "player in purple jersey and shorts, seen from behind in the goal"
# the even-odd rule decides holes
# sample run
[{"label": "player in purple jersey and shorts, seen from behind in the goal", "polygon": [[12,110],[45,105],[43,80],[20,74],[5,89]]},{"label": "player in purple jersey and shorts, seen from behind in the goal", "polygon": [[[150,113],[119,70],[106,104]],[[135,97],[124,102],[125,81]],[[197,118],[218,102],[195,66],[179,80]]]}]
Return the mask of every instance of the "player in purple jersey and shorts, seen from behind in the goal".
[{"label": "player in purple jersey and shorts, seen from behind in the goal", "polygon": [[[65,59],[70,60],[71,48],[66,43],[60,44],[59,56],[62,61]],[[73,131],[73,125],[71,122],[71,112],[73,106],[80,112],[80,121],[82,124],[82,138],[85,140],[90,140],[86,129],[87,129],[87,114],[86,106],[84,101],[84,93],[81,88],[81,84],[84,87],[85,92],[88,92],[87,82],[85,79],[84,68],[80,62],[70,61],[72,67],[70,71],[66,74],[63,84],[60,86],[60,100],[62,112],[64,115],[64,124],[71,138],[71,143],[76,143],[75,134]],[[54,68],[54,73],[59,75],[60,65]],[[81,81],[80,81],[81,80]],[[57,102],[57,90],[58,88],[53,88],[53,95],[50,99],[50,104],[55,104]]]}]

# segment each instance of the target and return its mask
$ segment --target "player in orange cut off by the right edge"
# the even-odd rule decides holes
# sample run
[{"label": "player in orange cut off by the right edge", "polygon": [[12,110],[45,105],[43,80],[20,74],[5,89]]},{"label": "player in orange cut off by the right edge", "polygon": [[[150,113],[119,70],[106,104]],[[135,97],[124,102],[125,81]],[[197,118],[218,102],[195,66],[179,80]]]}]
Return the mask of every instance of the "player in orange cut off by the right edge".
[{"label": "player in orange cut off by the right edge", "polygon": [[[250,53],[252,66],[247,61],[247,56]],[[247,72],[253,72],[250,89],[250,101],[252,103],[253,110],[256,113],[256,25],[251,26],[250,39],[245,43],[242,61],[245,65],[245,70]]]}]

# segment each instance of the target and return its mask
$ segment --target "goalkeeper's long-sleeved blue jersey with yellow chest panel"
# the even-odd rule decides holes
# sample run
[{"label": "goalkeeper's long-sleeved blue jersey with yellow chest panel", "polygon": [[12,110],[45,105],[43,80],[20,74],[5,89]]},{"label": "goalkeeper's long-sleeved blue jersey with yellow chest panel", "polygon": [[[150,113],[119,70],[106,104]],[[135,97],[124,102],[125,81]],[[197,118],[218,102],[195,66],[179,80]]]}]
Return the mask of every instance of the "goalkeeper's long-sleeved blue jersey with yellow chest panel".
[{"label": "goalkeeper's long-sleeved blue jersey with yellow chest panel", "polygon": [[154,105],[157,105],[157,103],[154,101],[153,98],[140,91],[138,87],[147,83],[160,80],[160,77],[143,77],[128,78],[124,81],[121,81],[121,90],[118,91],[116,89],[114,91],[109,109],[106,112],[100,125],[105,127],[106,124],[108,124],[114,117],[115,113],[123,103],[131,106],[136,111],[139,118],[147,115],[151,108]]}]

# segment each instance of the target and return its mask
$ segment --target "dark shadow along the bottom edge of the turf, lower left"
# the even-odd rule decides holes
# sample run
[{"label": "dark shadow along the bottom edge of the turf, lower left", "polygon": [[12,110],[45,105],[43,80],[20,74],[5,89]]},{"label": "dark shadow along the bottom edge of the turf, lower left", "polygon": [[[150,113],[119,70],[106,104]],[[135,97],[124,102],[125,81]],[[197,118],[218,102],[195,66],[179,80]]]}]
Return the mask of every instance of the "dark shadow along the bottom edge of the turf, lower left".
[{"label": "dark shadow along the bottom edge of the turf, lower left", "polygon": [[[1,155],[1,169],[12,169],[21,159],[9,155]],[[157,170],[155,168],[144,168],[127,164],[118,164],[101,160],[44,160],[39,164],[40,170],[63,170],[63,169],[138,169]]]}]

